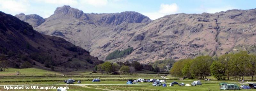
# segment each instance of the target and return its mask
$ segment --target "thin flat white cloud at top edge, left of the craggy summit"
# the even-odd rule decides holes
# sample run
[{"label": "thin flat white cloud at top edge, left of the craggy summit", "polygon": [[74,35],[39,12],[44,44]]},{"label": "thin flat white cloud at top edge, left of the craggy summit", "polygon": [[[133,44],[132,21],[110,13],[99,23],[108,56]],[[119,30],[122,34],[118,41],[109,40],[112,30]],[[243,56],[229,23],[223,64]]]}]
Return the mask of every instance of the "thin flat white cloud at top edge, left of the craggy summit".
[{"label": "thin flat white cloud at top edge, left of the craggy summit", "polygon": [[76,0],[35,0],[37,2],[51,3],[51,4],[60,4],[60,5],[77,5]]}]

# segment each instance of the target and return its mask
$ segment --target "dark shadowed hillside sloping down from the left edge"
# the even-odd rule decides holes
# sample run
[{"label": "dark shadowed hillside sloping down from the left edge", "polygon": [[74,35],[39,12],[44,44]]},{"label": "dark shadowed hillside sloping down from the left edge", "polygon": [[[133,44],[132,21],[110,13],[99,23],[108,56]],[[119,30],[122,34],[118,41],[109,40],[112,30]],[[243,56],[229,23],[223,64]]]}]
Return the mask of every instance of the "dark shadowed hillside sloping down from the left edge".
[{"label": "dark shadowed hillside sloping down from the left edge", "polygon": [[[100,63],[88,51],[63,38],[43,35],[28,23],[3,12],[0,12],[0,31],[0,55],[6,57],[10,67],[19,68],[27,61],[37,68],[75,71]],[[88,64],[77,66],[76,60]]]}]

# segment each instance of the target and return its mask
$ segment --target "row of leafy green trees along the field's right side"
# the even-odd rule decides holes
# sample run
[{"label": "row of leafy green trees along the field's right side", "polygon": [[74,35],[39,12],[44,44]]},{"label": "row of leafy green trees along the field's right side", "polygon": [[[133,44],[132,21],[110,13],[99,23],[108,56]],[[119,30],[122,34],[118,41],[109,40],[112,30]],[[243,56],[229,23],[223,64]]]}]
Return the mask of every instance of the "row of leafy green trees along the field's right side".
[{"label": "row of leafy green trees along the field's right side", "polygon": [[244,76],[255,75],[256,56],[240,51],[236,54],[225,54],[212,58],[211,56],[197,56],[194,59],[182,59],[173,64],[171,75],[179,77],[204,79],[213,76],[217,80],[244,79]]}]

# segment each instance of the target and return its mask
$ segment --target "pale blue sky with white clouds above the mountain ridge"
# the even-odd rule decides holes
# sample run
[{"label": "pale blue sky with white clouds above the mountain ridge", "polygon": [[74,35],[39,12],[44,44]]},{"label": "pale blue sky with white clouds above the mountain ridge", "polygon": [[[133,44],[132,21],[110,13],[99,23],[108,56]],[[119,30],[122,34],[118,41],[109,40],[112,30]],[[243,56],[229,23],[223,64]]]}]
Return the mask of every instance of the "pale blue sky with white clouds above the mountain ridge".
[{"label": "pale blue sky with white clouds above the mountain ridge", "polygon": [[16,15],[51,16],[57,7],[69,5],[84,13],[136,11],[155,20],[176,13],[215,13],[256,8],[256,0],[0,0],[0,11]]}]

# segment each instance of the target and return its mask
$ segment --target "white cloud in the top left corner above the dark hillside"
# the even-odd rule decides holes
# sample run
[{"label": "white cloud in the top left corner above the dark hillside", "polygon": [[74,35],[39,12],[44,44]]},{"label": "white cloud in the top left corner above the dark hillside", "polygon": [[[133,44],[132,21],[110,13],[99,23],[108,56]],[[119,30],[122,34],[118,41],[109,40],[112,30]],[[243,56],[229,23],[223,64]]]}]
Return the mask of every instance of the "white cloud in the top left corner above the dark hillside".
[{"label": "white cloud in the top left corner above the dark hillside", "polygon": [[11,14],[26,12],[29,6],[27,0],[0,0],[1,11],[9,11]]}]

